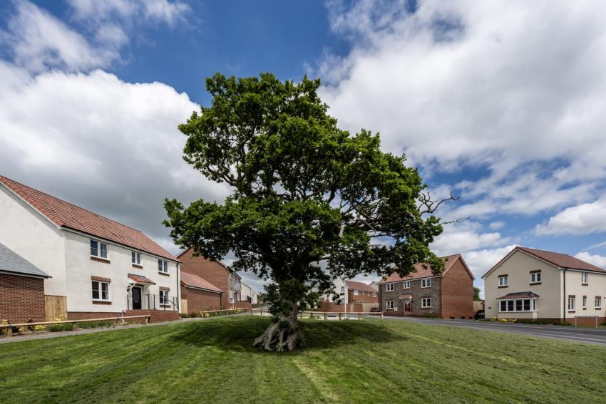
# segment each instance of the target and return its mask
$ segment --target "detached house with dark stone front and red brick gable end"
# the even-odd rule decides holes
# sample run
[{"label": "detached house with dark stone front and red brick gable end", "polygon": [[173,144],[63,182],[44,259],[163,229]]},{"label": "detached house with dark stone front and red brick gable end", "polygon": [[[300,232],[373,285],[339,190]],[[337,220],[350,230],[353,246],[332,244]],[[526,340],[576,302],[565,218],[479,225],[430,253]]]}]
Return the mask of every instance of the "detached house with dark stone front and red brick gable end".
[{"label": "detached house with dark stone front and red brick gable end", "polygon": [[444,271],[415,264],[416,272],[402,278],[394,273],[379,282],[381,311],[389,316],[473,318],[473,274],[461,254],[442,257]]}]

